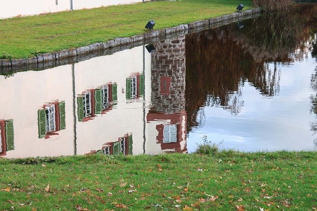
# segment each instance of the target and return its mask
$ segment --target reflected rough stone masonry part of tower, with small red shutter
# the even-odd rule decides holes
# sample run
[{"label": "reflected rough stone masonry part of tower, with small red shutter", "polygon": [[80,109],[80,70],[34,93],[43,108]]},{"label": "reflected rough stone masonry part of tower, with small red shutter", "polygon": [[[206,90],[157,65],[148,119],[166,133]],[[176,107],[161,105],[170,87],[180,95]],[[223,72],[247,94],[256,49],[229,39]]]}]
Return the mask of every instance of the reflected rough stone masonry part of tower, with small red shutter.
[{"label": "reflected rough stone masonry part of tower, with small red shutter", "polygon": [[165,113],[185,109],[185,36],[155,45],[151,55],[153,110]]}]

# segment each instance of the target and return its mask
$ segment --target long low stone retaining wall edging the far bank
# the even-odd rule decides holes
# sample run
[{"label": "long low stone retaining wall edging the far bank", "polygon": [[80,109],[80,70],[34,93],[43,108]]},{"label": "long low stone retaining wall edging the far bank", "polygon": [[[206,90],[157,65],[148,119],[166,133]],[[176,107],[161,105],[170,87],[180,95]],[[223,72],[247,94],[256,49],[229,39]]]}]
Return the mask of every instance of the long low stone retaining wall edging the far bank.
[{"label": "long low stone retaining wall edging the far bank", "polygon": [[252,18],[261,12],[260,8],[249,9],[243,12],[223,15],[207,20],[195,21],[189,24],[151,31],[127,38],[116,38],[106,43],[95,43],[76,49],[62,50],[55,53],[44,53],[31,58],[0,59],[0,73],[10,73],[23,70],[46,69],[54,66],[70,64],[92,57],[115,53],[130,49],[145,43],[155,43],[182,34],[197,32],[220,25],[225,25],[242,19]]}]

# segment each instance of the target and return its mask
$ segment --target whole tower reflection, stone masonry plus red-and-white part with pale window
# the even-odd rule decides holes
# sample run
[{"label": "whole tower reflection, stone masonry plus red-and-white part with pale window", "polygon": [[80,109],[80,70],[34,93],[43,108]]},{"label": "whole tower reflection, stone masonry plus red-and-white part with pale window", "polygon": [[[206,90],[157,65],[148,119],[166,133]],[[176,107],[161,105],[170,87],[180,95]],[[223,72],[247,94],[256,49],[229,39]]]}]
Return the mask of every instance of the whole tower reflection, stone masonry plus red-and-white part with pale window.
[{"label": "whole tower reflection, stone masonry plus red-and-white part with pale window", "polygon": [[185,111],[185,36],[161,41],[151,55],[148,122],[157,122],[157,143],[164,152],[187,152]]}]

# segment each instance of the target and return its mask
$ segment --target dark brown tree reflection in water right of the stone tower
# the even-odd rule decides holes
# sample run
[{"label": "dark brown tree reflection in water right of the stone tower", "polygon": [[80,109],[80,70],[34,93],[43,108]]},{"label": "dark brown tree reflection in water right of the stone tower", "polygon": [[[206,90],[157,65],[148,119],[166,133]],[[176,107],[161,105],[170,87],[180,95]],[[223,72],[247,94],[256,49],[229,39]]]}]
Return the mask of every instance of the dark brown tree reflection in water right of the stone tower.
[{"label": "dark brown tree reflection in water right of the stone tower", "polygon": [[[200,125],[198,114],[204,106],[219,106],[238,115],[244,106],[244,83],[265,97],[279,94],[278,65],[303,60],[307,40],[317,31],[316,5],[297,6],[293,11],[244,20],[242,29],[231,24],[186,35],[188,132]],[[316,38],[310,46],[316,55]],[[317,74],[314,77],[312,81],[317,81]],[[317,100],[313,104],[317,107]],[[312,130],[317,131],[315,125]]]}]

